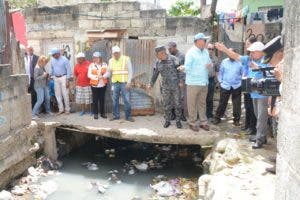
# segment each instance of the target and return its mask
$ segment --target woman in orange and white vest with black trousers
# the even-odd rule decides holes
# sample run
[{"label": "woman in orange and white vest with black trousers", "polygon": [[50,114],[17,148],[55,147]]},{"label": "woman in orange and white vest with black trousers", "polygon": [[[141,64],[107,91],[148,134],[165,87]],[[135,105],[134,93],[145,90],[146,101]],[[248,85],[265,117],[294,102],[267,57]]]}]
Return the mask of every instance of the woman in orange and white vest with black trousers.
[{"label": "woman in orange and white vest with black trousers", "polygon": [[100,115],[107,118],[104,112],[105,91],[107,78],[110,76],[107,64],[102,62],[101,53],[93,54],[93,63],[89,66],[88,77],[92,86],[94,119],[98,119],[98,104],[100,103]]}]

